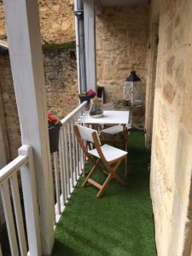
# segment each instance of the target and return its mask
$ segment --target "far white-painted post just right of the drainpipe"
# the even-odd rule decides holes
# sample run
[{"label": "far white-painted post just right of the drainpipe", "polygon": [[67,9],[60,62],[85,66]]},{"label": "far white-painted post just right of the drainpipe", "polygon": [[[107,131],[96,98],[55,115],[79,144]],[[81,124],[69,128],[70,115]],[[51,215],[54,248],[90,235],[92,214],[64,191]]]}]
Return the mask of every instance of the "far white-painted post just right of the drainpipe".
[{"label": "far white-painted post just right of the drainpipe", "polygon": [[96,15],[94,0],[84,0],[84,44],[87,89],[96,91]]}]

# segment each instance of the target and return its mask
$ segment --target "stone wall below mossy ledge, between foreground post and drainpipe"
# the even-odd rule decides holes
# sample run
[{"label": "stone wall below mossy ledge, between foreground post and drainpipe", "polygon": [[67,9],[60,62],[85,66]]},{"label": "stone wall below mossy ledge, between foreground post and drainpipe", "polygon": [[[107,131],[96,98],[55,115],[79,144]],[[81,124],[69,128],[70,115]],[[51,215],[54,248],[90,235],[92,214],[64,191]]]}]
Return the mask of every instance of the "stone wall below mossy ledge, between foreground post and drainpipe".
[{"label": "stone wall below mossy ledge, between foreground post and drainpipe", "polygon": [[49,110],[61,119],[79,105],[74,49],[44,53],[44,75]]}]

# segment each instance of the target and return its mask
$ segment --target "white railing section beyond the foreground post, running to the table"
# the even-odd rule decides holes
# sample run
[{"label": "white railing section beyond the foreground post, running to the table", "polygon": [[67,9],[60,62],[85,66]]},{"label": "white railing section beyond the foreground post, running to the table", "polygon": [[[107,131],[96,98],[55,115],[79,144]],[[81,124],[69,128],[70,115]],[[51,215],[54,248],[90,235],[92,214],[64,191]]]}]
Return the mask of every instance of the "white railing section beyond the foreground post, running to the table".
[{"label": "white railing section beyond the foreground post, running to the table", "polygon": [[86,105],[87,102],[83,102],[64,119],[61,119],[59,152],[53,154],[55,223],[61,217],[61,212],[64,211],[82,172],[83,153],[74,135],[73,126],[85,112]]}]

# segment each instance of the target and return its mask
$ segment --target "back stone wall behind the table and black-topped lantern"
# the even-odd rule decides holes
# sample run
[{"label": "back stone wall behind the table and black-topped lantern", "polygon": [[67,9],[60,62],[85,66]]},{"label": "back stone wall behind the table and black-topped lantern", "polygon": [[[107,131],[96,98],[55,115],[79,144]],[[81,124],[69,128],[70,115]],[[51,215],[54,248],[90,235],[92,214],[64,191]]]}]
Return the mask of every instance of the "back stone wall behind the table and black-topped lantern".
[{"label": "back stone wall behind the table and black-topped lantern", "polygon": [[97,79],[107,102],[122,101],[123,84],[131,70],[146,83],[148,6],[105,8],[96,17]]}]

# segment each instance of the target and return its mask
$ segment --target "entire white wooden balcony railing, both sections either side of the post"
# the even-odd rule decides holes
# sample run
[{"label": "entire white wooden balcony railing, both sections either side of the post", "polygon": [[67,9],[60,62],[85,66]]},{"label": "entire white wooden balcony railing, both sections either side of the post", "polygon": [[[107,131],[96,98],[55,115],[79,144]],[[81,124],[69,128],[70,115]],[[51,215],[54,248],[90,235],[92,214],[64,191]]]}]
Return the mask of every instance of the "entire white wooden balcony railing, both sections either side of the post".
[{"label": "entire white wooden balcony railing, both sections either side of the post", "polygon": [[[73,132],[87,102],[61,119],[59,152],[52,154],[55,187],[55,224],[79,180],[84,166],[83,152]],[[11,255],[42,255],[39,212],[32,148],[22,146],[19,155],[0,172],[0,191]],[[21,193],[22,189],[22,193]],[[20,201],[23,195],[24,206]],[[26,228],[25,228],[26,227]],[[3,252],[0,239],[0,256]]]}]

